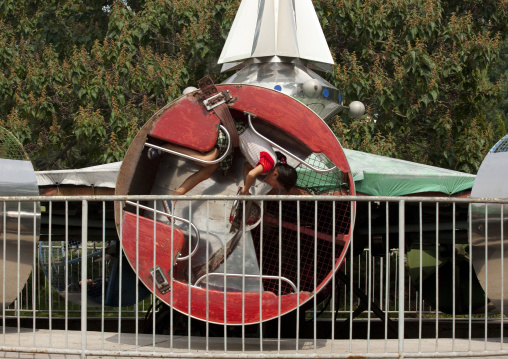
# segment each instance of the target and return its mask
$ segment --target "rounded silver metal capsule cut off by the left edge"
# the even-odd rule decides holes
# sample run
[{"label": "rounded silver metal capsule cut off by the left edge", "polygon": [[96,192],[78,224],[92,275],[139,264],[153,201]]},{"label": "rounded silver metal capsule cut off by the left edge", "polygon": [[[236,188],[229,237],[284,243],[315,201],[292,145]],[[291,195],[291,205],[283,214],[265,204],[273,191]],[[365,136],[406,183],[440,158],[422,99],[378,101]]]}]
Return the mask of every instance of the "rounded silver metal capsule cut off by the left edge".
[{"label": "rounded silver metal capsule cut off by the left edge", "polygon": [[[0,196],[39,195],[35,172],[29,161],[0,159],[0,168]],[[17,298],[18,289],[23,289],[32,272],[34,240],[39,240],[40,216],[38,202],[35,210],[34,202],[0,202],[0,278],[5,279],[5,292],[3,283],[0,284],[2,305],[9,305]]]}]

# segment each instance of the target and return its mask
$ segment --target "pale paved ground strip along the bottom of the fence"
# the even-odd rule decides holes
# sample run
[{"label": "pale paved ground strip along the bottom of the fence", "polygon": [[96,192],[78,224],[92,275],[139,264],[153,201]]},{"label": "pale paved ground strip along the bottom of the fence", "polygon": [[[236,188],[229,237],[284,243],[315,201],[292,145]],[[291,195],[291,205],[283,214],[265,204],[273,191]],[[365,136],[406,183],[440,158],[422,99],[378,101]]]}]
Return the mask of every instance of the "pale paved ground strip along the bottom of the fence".
[{"label": "pale paved ground strip along the bottom of the fence", "polygon": [[[2,327],[0,327],[2,328]],[[4,333],[3,328],[1,333]],[[81,332],[61,330],[36,330],[5,328],[0,335],[0,358],[44,358],[74,359],[79,358],[82,349]],[[312,340],[258,338],[208,338],[181,337],[169,335],[118,333],[86,333],[87,358],[169,358],[169,357],[381,357],[398,358],[396,340]],[[154,344],[155,343],[155,344]],[[436,347],[437,345],[437,347]],[[31,350],[35,353],[26,353]],[[227,350],[227,352],[226,352]],[[455,352],[454,352],[455,350]],[[436,355],[439,352],[441,355]],[[508,343],[501,343],[499,338],[473,339],[435,339],[405,340],[405,357],[466,357],[486,358],[487,354],[508,358]],[[425,353],[428,353],[426,355]]]}]

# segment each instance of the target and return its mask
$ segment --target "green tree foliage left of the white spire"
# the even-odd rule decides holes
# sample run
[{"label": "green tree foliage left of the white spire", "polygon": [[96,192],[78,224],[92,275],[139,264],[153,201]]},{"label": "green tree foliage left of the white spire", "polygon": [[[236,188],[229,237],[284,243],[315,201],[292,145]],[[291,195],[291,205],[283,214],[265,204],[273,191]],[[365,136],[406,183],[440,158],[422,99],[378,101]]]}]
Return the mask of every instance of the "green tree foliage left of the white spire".
[{"label": "green tree foliage left of the white spire", "polygon": [[217,77],[238,5],[0,2],[0,126],[38,169],[123,159],[158,109],[204,73]]}]

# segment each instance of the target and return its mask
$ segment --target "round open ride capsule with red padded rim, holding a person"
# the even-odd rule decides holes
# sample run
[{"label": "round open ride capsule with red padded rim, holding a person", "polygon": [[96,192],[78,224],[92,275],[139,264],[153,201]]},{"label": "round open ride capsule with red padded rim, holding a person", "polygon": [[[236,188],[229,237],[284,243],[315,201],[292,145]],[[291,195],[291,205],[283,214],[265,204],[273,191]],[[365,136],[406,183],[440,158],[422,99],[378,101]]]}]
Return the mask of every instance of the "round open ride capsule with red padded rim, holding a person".
[{"label": "round open ride capsule with red padded rim, holding a person", "polygon": [[[216,87],[232,95],[228,107],[233,118],[249,126],[250,117],[259,134],[314,168],[335,167],[317,172],[288,157],[298,172],[297,187],[280,194],[354,195],[344,152],[314,112],[274,90],[250,85]],[[182,96],[145,124],[123,161],[117,195],[171,194],[200,168],[168,153],[148,159],[147,151],[166,142],[201,152],[212,149],[220,120],[203,100],[200,91]],[[244,161],[236,150],[226,174],[216,170],[188,195],[235,195]],[[253,192],[279,193],[260,180]],[[126,257],[142,282],[184,314],[230,325],[284,315],[321,291],[344,259],[354,217],[354,204],[347,201],[264,201],[261,224],[245,232],[230,232],[231,201],[191,202],[182,197],[173,208],[164,209],[161,201],[140,205],[145,207],[117,205],[116,223]],[[171,211],[194,227],[171,215],[154,215],[154,207]]]}]

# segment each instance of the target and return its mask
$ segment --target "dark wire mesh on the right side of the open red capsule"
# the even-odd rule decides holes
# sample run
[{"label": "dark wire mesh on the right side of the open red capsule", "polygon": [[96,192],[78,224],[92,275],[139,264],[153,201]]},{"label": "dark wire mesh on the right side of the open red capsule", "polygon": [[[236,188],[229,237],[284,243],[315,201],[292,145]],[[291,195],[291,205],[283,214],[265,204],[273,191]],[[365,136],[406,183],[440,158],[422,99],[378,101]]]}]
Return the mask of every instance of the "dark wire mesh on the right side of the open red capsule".
[{"label": "dark wire mesh on the right side of the open red capsule", "polygon": [[[322,153],[310,155],[306,162],[321,169],[334,166]],[[344,195],[349,190],[347,177],[339,169],[319,173],[299,167],[298,172],[298,188],[306,193]],[[301,290],[312,292],[333,270],[334,258],[344,247],[341,240],[350,231],[350,202],[266,201],[265,211],[263,232],[259,227],[253,231],[258,260],[263,258],[262,272],[281,275],[293,283],[299,280]],[[333,242],[337,243],[335,252]],[[291,292],[287,282],[281,284],[280,293],[276,281],[263,284],[265,290],[279,295]]]}]

